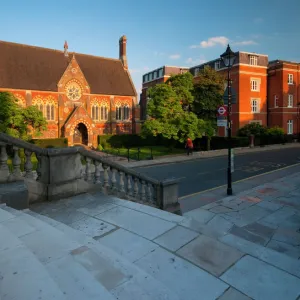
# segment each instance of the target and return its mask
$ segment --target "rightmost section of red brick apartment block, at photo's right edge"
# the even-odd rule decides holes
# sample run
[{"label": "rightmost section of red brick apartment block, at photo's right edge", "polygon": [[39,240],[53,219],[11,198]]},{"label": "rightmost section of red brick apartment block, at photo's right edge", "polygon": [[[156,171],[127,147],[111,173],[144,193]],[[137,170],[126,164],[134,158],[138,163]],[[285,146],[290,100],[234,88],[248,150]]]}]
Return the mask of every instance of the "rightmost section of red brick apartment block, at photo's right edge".
[{"label": "rightmost section of red brick apartment block, at photo's right edge", "polygon": [[287,134],[299,134],[300,64],[270,61],[268,68],[269,126],[280,126]]}]

